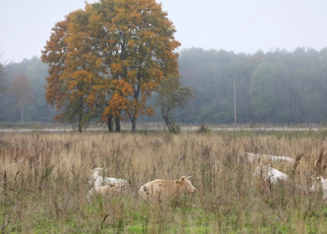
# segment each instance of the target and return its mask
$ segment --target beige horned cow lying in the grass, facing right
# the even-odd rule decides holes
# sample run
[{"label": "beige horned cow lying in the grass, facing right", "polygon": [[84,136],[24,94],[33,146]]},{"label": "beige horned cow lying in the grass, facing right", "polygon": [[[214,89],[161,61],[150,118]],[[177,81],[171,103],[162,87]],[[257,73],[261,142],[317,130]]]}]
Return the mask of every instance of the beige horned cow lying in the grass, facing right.
[{"label": "beige horned cow lying in the grass, facing right", "polygon": [[196,188],[188,180],[192,176],[183,176],[177,180],[156,179],[141,186],[139,196],[143,199],[157,200],[159,198],[178,197],[184,191],[195,193]]}]

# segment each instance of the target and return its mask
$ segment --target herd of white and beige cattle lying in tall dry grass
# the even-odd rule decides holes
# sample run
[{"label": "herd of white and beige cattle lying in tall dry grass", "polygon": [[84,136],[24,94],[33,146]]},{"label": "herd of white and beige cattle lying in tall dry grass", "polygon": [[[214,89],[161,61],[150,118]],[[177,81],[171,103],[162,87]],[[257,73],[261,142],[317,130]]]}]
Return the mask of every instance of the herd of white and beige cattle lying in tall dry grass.
[{"label": "herd of white and beige cattle lying in tall dry grass", "polygon": [[[295,160],[290,157],[285,156],[271,156],[271,155],[262,155],[262,154],[253,154],[253,153],[243,153],[242,156],[246,157],[250,162],[255,162],[257,160],[267,159],[270,161],[276,162],[290,162],[294,163]],[[127,190],[129,188],[129,183],[124,179],[116,179],[110,177],[103,177],[103,172],[107,171],[104,168],[94,168],[90,169],[92,175],[89,180],[89,184],[93,186],[92,189],[88,192],[88,197],[91,197],[95,194],[100,195],[109,195],[114,192]],[[270,164],[264,165],[260,164],[253,173],[254,176],[262,176],[269,184],[275,184],[279,181],[288,180],[288,176],[272,168]],[[196,188],[192,185],[189,178],[192,176],[182,176],[177,180],[162,180],[156,179],[150,181],[141,186],[138,191],[138,194],[141,198],[147,200],[156,200],[158,198],[168,198],[168,197],[178,197],[181,193],[195,193]],[[311,192],[316,192],[319,190],[323,191],[324,199],[327,198],[327,179],[324,179],[322,176],[317,178],[312,178],[315,180],[315,184],[310,188]]]}]

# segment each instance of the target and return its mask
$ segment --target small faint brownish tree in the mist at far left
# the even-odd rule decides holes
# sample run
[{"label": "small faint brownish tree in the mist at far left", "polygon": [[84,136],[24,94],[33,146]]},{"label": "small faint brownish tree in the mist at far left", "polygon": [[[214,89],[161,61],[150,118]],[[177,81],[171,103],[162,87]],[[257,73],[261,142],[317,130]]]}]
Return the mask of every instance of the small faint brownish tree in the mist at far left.
[{"label": "small faint brownish tree in the mist at far left", "polygon": [[20,107],[21,120],[24,123],[24,108],[26,104],[35,100],[33,96],[34,88],[25,74],[17,75],[10,84],[10,90],[16,100],[17,106]]}]

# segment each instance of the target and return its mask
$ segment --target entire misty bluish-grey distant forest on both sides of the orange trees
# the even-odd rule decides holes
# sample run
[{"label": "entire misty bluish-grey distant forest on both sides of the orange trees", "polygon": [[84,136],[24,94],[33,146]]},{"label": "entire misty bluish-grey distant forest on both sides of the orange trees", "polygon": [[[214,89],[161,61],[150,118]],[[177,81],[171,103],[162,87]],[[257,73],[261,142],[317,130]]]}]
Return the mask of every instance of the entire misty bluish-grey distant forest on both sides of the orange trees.
[{"label": "entire misty bluish-grey distant forest on both sides of the orange trees", "polygon": [[[179,123],[233,123],[235,79],[237,123],[321,123],[327,120],[327,48],[321,51],[297,48],[264,53],[235,54],[201,48],[180,51],[179,73],[183,86],[196,99],[172,114]],[[37,57],[6,67],[5,92],[0,93],[0,121],[21,121],[12,90],[13,78],[25,74],[34,87],[33,100],[26,104],[24,121],[53,122],[55,107],[45,99],[47,64]],[[156,93],[148,100],[155,106]],[[162,121],[141,116],[140,122]]]}]

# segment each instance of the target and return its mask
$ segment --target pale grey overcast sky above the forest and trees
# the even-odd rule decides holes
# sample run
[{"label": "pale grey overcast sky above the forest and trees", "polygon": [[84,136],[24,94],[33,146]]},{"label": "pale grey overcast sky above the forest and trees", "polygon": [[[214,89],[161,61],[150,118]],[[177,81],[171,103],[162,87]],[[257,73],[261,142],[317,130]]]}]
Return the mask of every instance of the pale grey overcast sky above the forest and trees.
[{"label": "pale grey overcast sky above the forest and trees", "polygon": [[[327,47],[326,0],[157,1],[174,22],[181,48],[255,53]],[[84,0],[2,0],[2,60],[20,62],[40,56],[54,23],[83,7]]]}]

